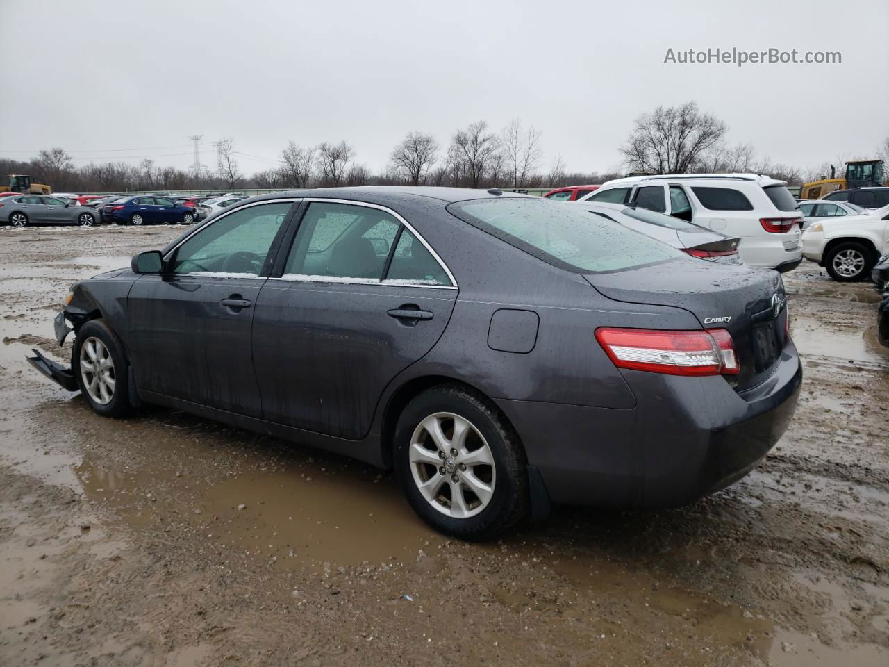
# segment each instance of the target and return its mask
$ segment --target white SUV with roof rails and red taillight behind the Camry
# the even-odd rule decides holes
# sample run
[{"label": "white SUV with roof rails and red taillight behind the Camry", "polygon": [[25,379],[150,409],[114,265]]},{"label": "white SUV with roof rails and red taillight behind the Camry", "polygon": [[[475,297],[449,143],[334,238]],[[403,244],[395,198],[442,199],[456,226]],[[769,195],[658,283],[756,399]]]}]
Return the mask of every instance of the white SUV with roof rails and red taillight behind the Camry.
[{"label": "white SUV with roof rails and red taillight behind the Camry", "polygon": [[632,176],[579,201],[635,204],[740,237],[745,264],[789,271],[803,260],[803,213],[786,186],[756,173]]}]

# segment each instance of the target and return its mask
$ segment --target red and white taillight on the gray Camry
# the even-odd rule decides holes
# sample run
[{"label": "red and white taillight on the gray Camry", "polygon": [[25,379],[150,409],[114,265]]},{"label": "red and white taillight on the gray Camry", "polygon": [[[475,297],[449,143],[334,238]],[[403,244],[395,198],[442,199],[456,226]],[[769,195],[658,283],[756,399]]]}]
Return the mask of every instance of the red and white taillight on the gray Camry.
[{"label": "red and white taillight on the gray Camry", "polygon": [[725,329],[596,330],[596,340],[618,368],[668,375],[736,375],[738,358]]}]

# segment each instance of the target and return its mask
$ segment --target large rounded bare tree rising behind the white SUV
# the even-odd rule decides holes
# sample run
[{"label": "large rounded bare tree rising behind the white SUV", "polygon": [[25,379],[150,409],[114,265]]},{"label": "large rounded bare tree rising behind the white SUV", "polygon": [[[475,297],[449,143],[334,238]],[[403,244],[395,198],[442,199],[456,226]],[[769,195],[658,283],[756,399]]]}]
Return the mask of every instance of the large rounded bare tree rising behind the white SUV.
[{"label": "large rounded bare tree rising behind the white SUV", "polygon": [[688,173],[725,130],[725,123],[702,113],[697,102],[658,107],[636,119],[621,152],[633,172]]}]

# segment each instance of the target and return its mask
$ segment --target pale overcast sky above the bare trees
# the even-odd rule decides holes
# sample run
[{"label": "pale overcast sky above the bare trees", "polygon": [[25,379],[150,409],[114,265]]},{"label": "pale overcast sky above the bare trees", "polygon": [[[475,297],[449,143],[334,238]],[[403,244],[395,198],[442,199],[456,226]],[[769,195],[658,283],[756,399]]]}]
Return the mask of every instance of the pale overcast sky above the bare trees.
[{"label": "pale overcast sky above the bare trees", "polygon": [[[499,131],[520,117],[542,132],[542,169],[561,154],[569,170],[604,172],[634,118],[686,100],[725,120],[729,141],[804,167],[873,156],[889,135],[887,0],[0,8],[4,157],[60,146],[76,164],[184,167],[188,135],[203,134],[205,164],[210,142],[232,137],[245,173],[274,166],[289,140],[344,139],[376,170],[408,131],[446,145],[473,121]],[[717,47],[838,51],[842,64],[664,63],[668,48]]]}]

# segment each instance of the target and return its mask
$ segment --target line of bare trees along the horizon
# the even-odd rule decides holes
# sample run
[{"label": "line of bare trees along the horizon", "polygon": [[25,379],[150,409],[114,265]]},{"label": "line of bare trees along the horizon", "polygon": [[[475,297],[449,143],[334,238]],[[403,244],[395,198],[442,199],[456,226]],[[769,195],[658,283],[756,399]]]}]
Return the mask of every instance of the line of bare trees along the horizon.
[{"label": "line of bare trees along the horizon", "polygon": [[[235,141],[219,143],[216,169],[190,170],[156,165],[145,158],[138,165],[123,161],[74,164],[61,148],[44,149],[28,161],[0,157],[0,173],[28,173],[34,181],[57,191],[117,192],[189,189],[286,189],[361,185],[432,185],[461,188],[557,188],[601,183],[627,173],[763,173],[790,184],[838,173],[846,159],[802,168],[758,157],[752,144],[731,145],[727,126],[690,101],[677,107],[658,107],[637,117],[621,145],[621,169],[605,173],[568,172],[562,157],[544,168],[541,131],[519,118],[495,132],[479,120],[453,133],[443,146],[429,133],[410,132],[392,149],[388,164],[374,173],[356,161],[348,141],[301,145],[288,141],[278,164],[244,175]],[[889,161],[889,138],[877,154]]]}]

